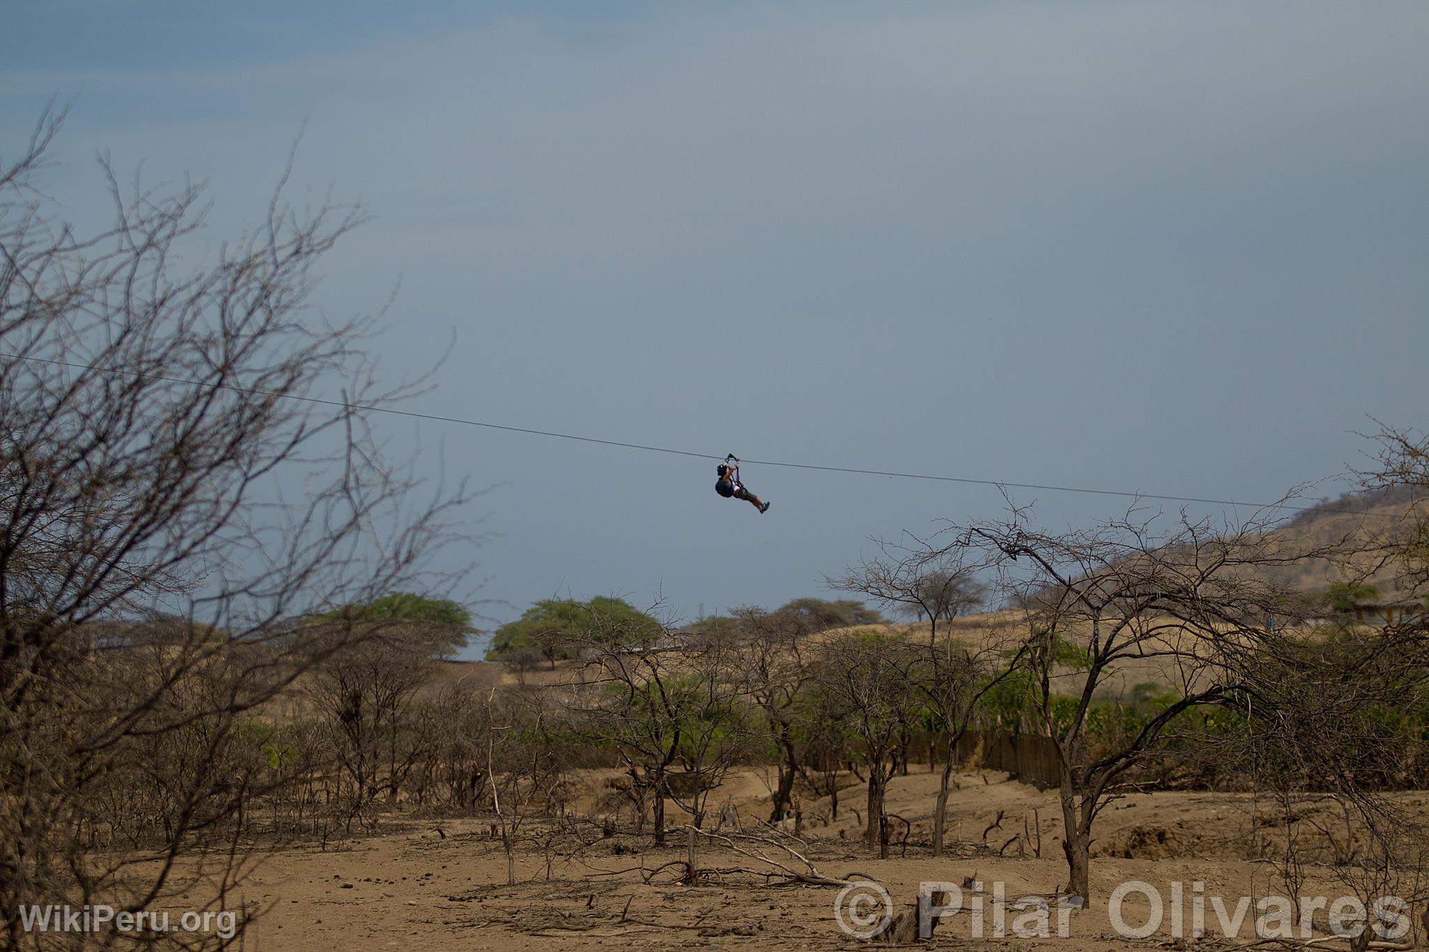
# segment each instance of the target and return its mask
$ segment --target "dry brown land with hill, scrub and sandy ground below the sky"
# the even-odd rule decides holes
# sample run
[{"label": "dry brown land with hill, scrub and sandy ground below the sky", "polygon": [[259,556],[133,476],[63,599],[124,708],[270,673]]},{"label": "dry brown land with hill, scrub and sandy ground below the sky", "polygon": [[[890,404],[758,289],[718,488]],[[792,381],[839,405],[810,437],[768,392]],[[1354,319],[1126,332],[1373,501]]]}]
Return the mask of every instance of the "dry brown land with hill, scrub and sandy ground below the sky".
[{"label": "dry brown land with hill, scrub and sandy ground below the sky", "polygon": [[[1276,531],[1339,518],[1356,517]],[[93,652],[96,698],[169,668],[183,691],[173,709],[131,701],[176,722],[89,774],[70,848],[109,882],[83,902],[189,933],[116,923],[124,941],[299,952],[920,932],[917,948],[1413,948],[1429,667],[1403,654],[1423,612],[1375,627],[1352,614],[1375,589],[1336,608],[1276,584],[1285,538],[1200,532],[1082,550],[1012,530],[983,555],[1070,547],[1087,567],[1009,575],[910,624],[813,598],[714,628],[562,602],[570,618],[497,644],[500,661],[454,661],[449,627],[383,615],[452,608],[400,592],[277,638],[306,645],[292,659],[174,619],[96,629],[126,647]],[[46,908],[61,906],[81,903]],[[40,905],[16,908],[14,933],[50,948]],[[1389,942],[1349,942],[1365,919]]]}]

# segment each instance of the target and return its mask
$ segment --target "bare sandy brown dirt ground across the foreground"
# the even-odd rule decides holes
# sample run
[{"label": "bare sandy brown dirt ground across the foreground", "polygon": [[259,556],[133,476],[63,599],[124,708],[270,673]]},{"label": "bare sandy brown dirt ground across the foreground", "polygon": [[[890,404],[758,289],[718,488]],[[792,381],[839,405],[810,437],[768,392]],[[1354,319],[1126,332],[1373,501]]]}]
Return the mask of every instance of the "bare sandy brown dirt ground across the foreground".
[{"label": "bare sandy brown dirt ground across the foreground", "polygon": [[[926,769],[926,768],[925,768]],[[863,808],[862,786],[840,792],[840,812],[826,816],[827,801],[803,806],[803,842],[809,859],[829,876],[862,873],[876,879],[897,911],[910,908],[920,882],[950,882],[963,892],[963,911],[946,916],[920,948],[962,948],[975,939],[982,902],[979,948],[1147,949],[1233,948],[1253,941],[1259,911],[1253,903],[1288,891],[1272,864],[1255,859],[1266,844],[1282,842],[1268,804],[1233,794],[1137,794],[1112,804],[1095,846],[1093,896],[1087,908],[1060,911],[1052,899],[1043,913],[1037,901],[1005,912],[997,938],[992,898],[1006,901],[1049,896],[1065,889],[1066,864],[1053,792],[1039,791],[995,772],[959,776],[950,801],[949,841],[959,845],[933,859],[926,846],[900,855],[895,836],[889,859],[870,859],[859,841],[855,809]],[[922,825],[932,811],[937,779],[913,774],[893,781],[889,811]],[[600,776],[592,778],[592,789]],[[1423,811],[1429,795],[1408,795]],[[765,779],[746,772],[722,786],[712,805],[737,811],[746,832],[767,802]],[[822,821],[827,822],[822,822]],[[1322,818],[1333,828],[1335,816]],[[990,829],[989,829],[990,828]],[[1040,838],[1039,838],[1040,828]],[[726,828],[727,831],[727,828]],[[766,831],[767,832],[767,831]],[[835,949],[860,942],[846,935],[835,915],[837,888],[769,885],[747,873],[713,872],[697,886],[677,881],[673,866],[646,883],[646,871],[684,859],[683,834],[643,859],[633,839],[590,836],[580,858],[556,858],[549,866],[539,844],[523,845],[516,886],[506,885],[506,855],[499,839],[476,821],[393,821],[382,835],[317,848],[273,852],[249,879],[244,898],[262,908],[249,926],[246,948],[260,951],[332,952],[336,949]],[[740,841],[736,841],[740,842]],[[1040,856],[1037,845],[1040,842]],[[747,842],[745,844],[749,845]],[[805,846],[797,846],[805,849]],[[1002,855],[999,856],[999,849]],[[773,854],[772,854],[773,855]],[[747,856],[719,845],[702,846],[702,869],[753,868]],[[763,868],[763,866],[759,866]],[[1310,869],[1300,895],[1330,899],[1350,893],[1329,869]],[[1109,896],[1123,882],[1149,883],[1162,896],[1162,925],[1147,938],[1126,938],[1113,929]],[[1172,883],[1180,882],[1180,926],[1173,925]],[[1193,883],[1203,883],[1202,888]],[[980,893],[975,892],[980,886]],[[963,886],[967,886],[963,889]],[[870,893],[877,902],[879,896]],[[1193,899],[1205,896],[1203,938],[1195,936]],[[1213,898],[1233,918],[1240,896],[1252,908],[1239,931],[1225,928]],[[847,896],[846,896],[847,899]],[[847,906],[846,906],[847,909]],[[880,911],[862,906],[853,912]],[[1415,919],[1420,909],[1406,915]],[[1133,892],[1122,906],[1130,926],[1146,923],[1150,901]],[[1027,916],[1019,919],[1019,916]],[[876,912],[873,915],[876,918]],[[1047,936],[1036,935],[1045,922]],[[1299,929],[1299,913],[1292,915]],[[1013,933],[1020,923],[1022,936]],[[1065,925],[1063,925],[1065,923]],[[1316,935],[1326,912],[1313,916]],[[1065,932],[1066,935],[1059,935]],[[1239,935],[1236,941],[1226,933]],[[1296,932],[1300,935],[1300,932]],[[1343,942],[1328,948],[1346,948]]]}]

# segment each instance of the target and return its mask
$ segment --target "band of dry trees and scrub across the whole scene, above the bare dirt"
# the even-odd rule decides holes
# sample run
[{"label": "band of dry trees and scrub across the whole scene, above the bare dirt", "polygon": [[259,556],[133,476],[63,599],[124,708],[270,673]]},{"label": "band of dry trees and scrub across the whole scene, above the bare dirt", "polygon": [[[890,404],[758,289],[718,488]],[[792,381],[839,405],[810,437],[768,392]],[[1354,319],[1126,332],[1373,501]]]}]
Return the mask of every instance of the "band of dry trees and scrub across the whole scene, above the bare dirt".
[{"label": "band of dry trees and scrub across the whole scene, above the bare dirt", "polygon": [[[26,931],[17,911],[240,908],[252,929],[272,911],[246,899],[264,856],[412,829],[496,845],[484,885],[753,902],[866,864],[1059,852],[1046,889],[1085,901],[1109,811],[1153,789],[1253,798],[1246,859],[1286,889],[1313,872],[1365,899],[1429,895],[1425,816],[1402,795],[1429,771],[1415,434],[1379,434],[1363,511],[1137,508],[1047,532],[1009,505],[825,579],[850,598],[690,624],[547,601],[490,662],[453,662],[472,618],[427,568],[460,538],[464,491],[420,494],[384,458],[366,408],[407,391],[374,391],[366,324],[304,314],[309,268],[357,218],[274,197],[254,234],[181,271],[200,190],[111,180],[116,224],[79,236],[36,184],[56,128],[0,168],[9,946],[240,943]],[[317,381],[347,401],[304,402]],[[1393,621],[1356,619],[1386,572]],[[999,811],[977,835],[962,784],[1017,744],[999,769],[1049,814]]]}]

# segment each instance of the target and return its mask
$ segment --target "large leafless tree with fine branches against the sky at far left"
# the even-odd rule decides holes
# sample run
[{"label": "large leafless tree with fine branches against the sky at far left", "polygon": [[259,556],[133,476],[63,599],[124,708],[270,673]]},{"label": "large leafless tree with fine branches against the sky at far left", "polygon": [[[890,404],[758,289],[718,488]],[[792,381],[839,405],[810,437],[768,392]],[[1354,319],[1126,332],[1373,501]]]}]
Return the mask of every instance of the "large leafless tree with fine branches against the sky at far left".
[{"label": "large leafless tree with fine branches against the sky at far left", "polygon": [[[410,391],[376,390],[360,351],[370,321],[307,311],[313,267],[356,211],[294,208],[280,186],[252,233],[204,258],[201,187],[123,187],[101,164],[113,224],[80,234],[41,188],[60,118],[46,116],[0,167],[0,933],[11,948],[56,939],[21,929],[24,903],[103,895],[140,911],[194,881],[183,856],[233,835],[214,818],[242,811],[244,785],[199,771],[173,788],[146,865],[84,839],[103,834],[90,792],[153,738],[203,725],[211,749],[230,742],[246,712],[346,648],[314,644],[293,619],[403,587],[447,538],[443,512],[460,497],[404,501],[413,480],[383,462],[360,407]],[[144,625],[114,624],[154,611],[184,622],[161,649]],[[116,677],[140,661],[143,677]],[[239,859],[203,869],[214,903],[242,872]]]}]

